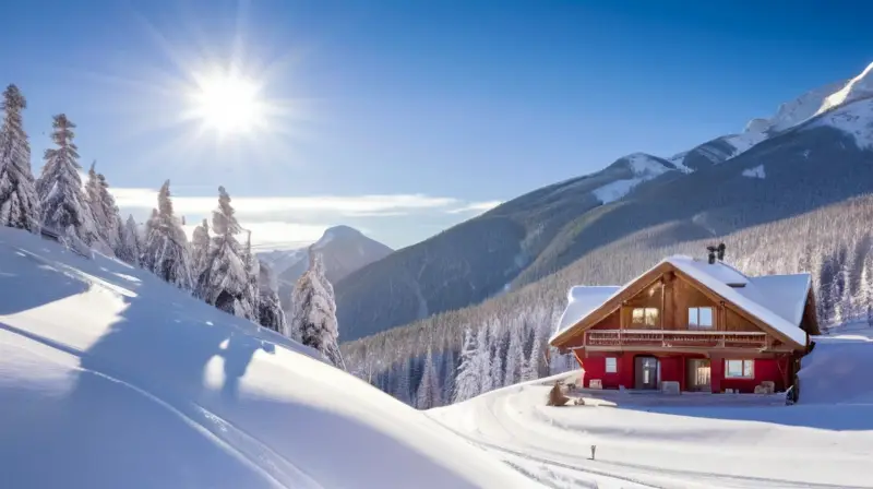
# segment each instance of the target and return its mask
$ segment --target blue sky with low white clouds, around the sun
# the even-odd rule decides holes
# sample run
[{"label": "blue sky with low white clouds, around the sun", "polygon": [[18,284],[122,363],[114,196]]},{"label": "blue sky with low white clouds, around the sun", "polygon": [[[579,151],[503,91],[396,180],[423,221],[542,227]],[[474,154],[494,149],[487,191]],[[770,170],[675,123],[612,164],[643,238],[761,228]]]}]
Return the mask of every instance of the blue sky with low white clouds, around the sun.
[{"label": "blue sky with low white clouds, around the sun", "polygon": [[[838,3],[32,0],[4,5],[0,59],[35,168],[63,111],[125,212],[169,178],[195,220],[224,184],[263,247],[333,224],[402,247],[853,76],[871,12]],[[199,135],[180,120],[192,73],[234,59],[280,109]]]}]

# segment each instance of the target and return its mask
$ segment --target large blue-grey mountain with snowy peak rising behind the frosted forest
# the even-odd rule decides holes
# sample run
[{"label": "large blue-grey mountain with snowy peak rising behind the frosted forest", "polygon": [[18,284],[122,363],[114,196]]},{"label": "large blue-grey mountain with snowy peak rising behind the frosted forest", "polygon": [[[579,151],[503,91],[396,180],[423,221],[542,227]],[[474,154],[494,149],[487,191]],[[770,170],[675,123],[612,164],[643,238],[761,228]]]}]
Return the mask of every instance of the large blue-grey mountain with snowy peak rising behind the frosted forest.
[{"label": "large blue-grey mountain with snowy peak rising behind the frosted forest", "polygon": [[352,273],[336,287],[346,339],[519,289],[634,232],[658,229],[657,241],[638,244],[649,249],[873,192],[872,70],[781,104],[737,134],[673,156],[632,153],[534,190]]}]

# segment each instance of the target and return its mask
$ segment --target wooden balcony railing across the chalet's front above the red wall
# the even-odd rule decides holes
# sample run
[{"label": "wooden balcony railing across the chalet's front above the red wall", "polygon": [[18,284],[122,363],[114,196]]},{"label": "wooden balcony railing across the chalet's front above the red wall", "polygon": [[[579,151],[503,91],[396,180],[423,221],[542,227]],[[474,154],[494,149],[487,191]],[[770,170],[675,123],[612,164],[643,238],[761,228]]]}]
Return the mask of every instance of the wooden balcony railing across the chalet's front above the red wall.
[{"label": "wooden balcony railing across the chalet's front above the red wall", "polygon": [[767,334],[749,331],[591,330],[586,346],[766,348]]}]

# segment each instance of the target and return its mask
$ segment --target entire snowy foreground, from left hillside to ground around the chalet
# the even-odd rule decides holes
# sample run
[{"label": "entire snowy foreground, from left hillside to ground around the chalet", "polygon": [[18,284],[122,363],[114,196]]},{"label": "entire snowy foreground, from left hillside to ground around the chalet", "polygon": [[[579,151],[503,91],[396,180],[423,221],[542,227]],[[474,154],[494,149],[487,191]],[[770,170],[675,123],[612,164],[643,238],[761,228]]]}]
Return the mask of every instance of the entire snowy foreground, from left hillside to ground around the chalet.
[{"label": "entire snowy foreground, from left hillside to ground around the chalet", "polygon": [[420,413],[22,231],[0,228],[0,487],[873,487],[873,329],[818,338],[794,406],[588,392],[547,407],[547,379]]}]

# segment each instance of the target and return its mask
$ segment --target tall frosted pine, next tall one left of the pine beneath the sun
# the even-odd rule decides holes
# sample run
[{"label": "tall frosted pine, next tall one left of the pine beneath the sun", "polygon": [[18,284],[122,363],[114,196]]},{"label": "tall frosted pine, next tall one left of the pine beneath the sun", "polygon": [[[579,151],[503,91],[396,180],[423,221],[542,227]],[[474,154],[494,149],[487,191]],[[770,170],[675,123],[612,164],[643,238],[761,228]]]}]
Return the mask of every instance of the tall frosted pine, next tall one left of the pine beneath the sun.
[{"label": "tall frosted pine, next tall one left of the pine beneath the sun", "polygon": [[142,267],[183,290],[191,290],[191,251],[188,237],[172,213],[169,180],[160,186],[157,204],[158,211],[148,219],[148,235],[145,237],[141,257]]}]

